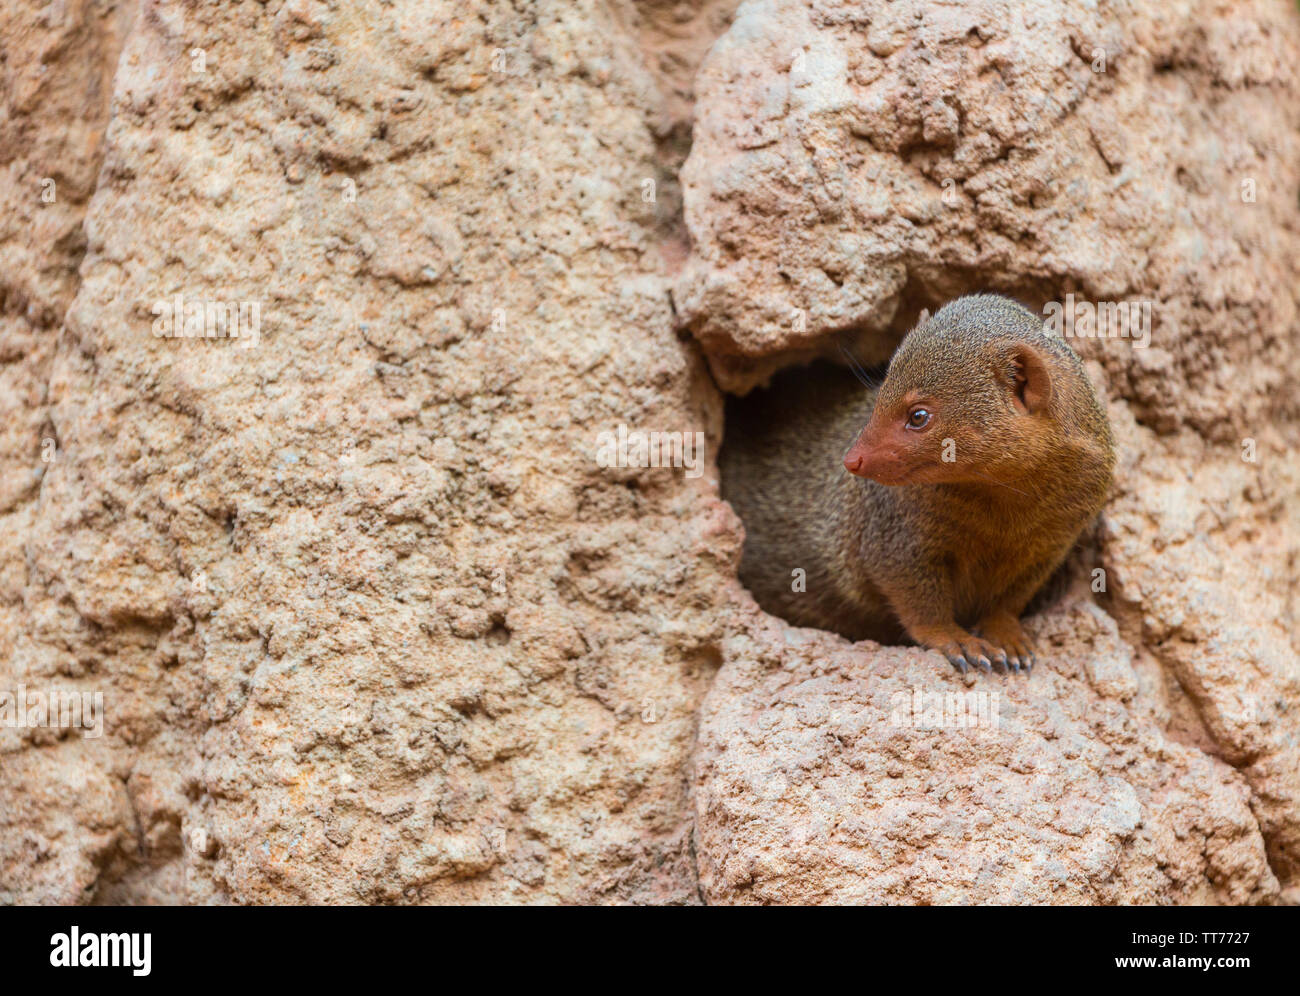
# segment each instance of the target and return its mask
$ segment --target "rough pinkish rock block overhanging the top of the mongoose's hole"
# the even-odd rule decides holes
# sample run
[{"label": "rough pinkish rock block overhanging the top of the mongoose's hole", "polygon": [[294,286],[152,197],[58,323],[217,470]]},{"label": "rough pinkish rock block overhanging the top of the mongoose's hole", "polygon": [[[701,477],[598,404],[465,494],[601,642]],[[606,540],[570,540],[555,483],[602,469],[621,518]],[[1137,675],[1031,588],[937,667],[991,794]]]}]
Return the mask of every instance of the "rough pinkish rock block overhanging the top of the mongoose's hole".
[{"label": "rough pinkish rock block overhanging the top of the mongoose's hole", "polygon": [[1288,368],[1256,358],[1291,352],[1295,324],[1294,22],[1270,3],[746,3],[697,83],[677,307],[745,387],[766,369],[746,358],[828,332],[888,356],[971,287],[1153,300],[1156,348],[1092,351],[1117,394],[1161,429],[1257,430]]}]

